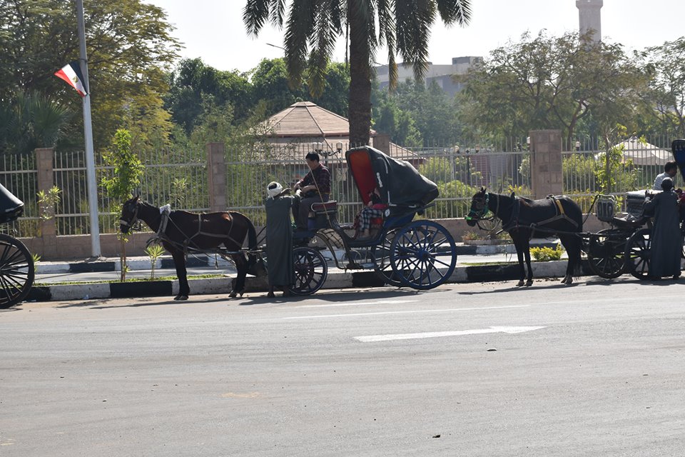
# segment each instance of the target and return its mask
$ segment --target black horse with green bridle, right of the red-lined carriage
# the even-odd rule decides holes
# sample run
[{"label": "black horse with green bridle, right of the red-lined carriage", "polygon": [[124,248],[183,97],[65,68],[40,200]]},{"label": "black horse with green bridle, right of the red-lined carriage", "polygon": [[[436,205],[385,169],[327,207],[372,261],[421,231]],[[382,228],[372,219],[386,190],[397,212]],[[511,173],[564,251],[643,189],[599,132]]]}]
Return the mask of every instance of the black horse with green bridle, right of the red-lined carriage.
[{"label": "black horse with green bridle, right of the red-lined carriage", "polygon": [[492,194],[482,187],[471,199],[467,224],[475,226],[478,220],[485,219],[489,211],[502,220],[502,229],[507,231],[514,241],[520,273],[517,286],[523,286],[526,277],[523,266],[524,253],[528,266],[528,279],[525,285],[530,286],[533,283],[530,238],[551,235],[559,236],[569,256],[566,276],[562,283],[573,283],[573,275],[580,269],[582,250],[582,238],[577,233],[583,230],[583,213],[576,202],[567,196],[549,196],[540,200],[522,199],[513,193],[511,196]]}]

